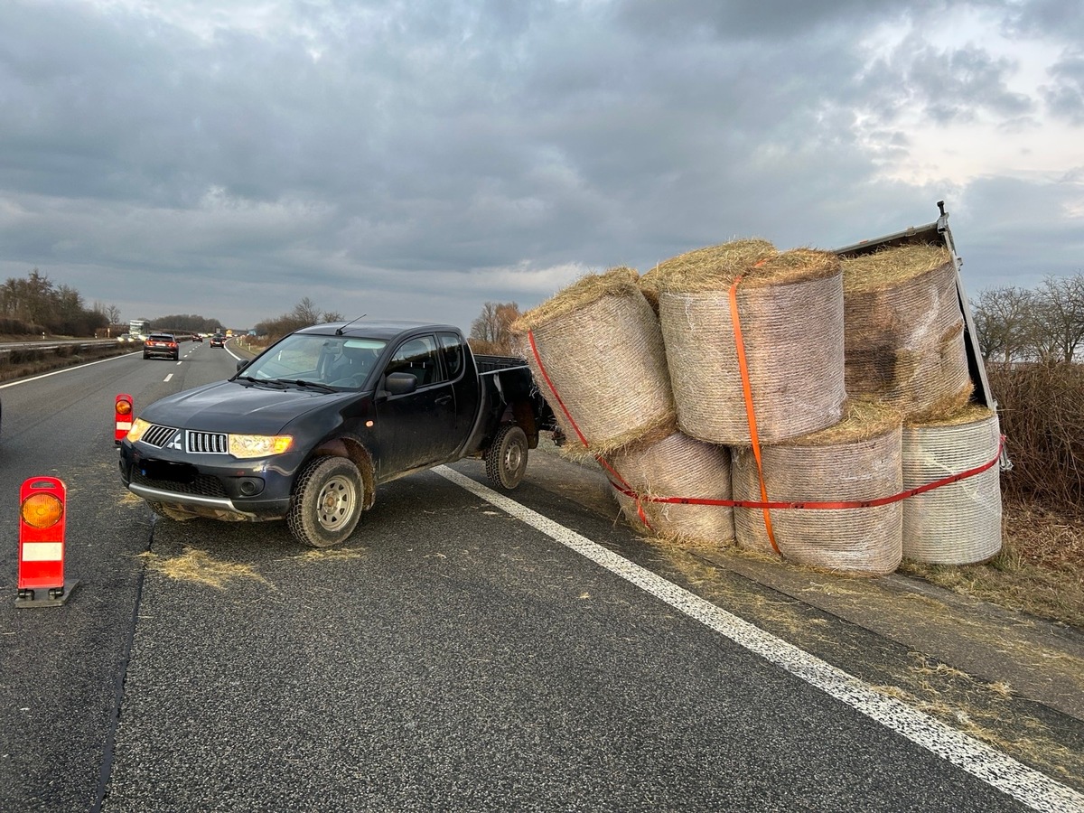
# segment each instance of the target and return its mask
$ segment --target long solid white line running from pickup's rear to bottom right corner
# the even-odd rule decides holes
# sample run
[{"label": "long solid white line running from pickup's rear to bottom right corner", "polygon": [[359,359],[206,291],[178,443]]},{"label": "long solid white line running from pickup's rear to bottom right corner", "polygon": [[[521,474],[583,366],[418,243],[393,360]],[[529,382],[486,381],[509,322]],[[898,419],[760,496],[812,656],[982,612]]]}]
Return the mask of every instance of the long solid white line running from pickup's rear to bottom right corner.
[{"label": "long solid white line running from pickup's rear to bottom right corner", "polygon": [[1079,813],[1084,810],[1084,795],[1055,782],[1046,774],[1017,762],[1011,757],[901,700],[875,692],[868,684],[843,670],[753,627],[684,588],[618,556],[586,537],[475,482],[448,466],[438,466],[434,470],[554,541],[602,565],[644,592],[660,598],[689,618],[725,635],[734,643],[760,655],[1029,808],[1051,813],[1070,813],[1070,811]]}]

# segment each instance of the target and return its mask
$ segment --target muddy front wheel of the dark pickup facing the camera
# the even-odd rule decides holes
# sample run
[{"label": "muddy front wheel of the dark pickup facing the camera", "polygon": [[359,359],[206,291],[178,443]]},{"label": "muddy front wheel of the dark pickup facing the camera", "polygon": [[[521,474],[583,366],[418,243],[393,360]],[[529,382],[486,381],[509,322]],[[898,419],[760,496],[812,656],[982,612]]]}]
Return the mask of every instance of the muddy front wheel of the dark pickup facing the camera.
[{"label": "muddy front wheel of the dark pickup facing the camera", "polygon": [[358,527],[364,493],[351,461],[318,457],[297,478],[286,515],[289,532],[310,547],[341,544]]}]

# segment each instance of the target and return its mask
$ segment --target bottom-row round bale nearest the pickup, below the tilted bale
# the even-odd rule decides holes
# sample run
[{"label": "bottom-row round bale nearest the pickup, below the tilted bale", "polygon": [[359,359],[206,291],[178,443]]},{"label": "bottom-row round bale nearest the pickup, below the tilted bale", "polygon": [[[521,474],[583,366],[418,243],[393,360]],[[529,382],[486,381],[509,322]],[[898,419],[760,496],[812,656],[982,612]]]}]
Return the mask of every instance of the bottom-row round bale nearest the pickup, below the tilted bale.
[{"label": "bottom-row round bale nearest the pickup, below the tilted bale", "polygon": [[[731,453],[675,431],[661,440],[637,443],[607,455],[607,463],[636,494],[701,500],[731,499]],[[612,477],[611,477],[612,482]],[[662,539],[720,545],[734,541],[734,509],[728,505],[682,505],[636,500],[614,492],[621,512]]]}]

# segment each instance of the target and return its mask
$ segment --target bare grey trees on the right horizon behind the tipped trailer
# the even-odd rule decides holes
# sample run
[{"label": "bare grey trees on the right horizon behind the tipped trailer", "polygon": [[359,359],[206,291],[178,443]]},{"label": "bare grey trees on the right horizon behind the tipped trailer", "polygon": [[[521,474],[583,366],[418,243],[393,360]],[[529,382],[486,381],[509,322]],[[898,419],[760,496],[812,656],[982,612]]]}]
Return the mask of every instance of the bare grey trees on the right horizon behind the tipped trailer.
[{"label": "bare grey trees on the right horizon behind the tipped trailer", "polygon": [[1047,276],[1035,288],[988,288],[971,315],[986,362],[1073,361],[1084,349],[1084,274]]}]

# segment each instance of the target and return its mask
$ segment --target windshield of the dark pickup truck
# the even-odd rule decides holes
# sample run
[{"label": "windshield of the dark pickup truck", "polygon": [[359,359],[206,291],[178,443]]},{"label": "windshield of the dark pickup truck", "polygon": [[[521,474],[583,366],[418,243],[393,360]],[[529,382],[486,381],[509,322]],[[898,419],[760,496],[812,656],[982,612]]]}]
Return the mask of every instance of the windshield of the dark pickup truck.
[{"label": "windshield of the dark pickup truck", "polygon": [[237,377],[279,384],[361,389],[387,343],[296,333],[242,370]]}]

